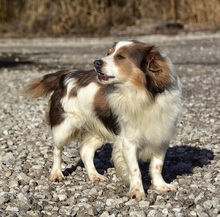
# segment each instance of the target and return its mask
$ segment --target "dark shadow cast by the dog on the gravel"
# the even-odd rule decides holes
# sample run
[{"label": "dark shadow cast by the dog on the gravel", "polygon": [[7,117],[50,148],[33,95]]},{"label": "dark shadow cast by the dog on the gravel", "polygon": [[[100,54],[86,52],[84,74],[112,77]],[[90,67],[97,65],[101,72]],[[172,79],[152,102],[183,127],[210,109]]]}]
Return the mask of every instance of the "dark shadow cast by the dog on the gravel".
[{"label": "dark shadow cast by the dog on the gravel", "polygon": [[[100,174],[104,174],[109,168],[114,167],[111,161],[112,147],[106,144],[100,148],[94,158],[94,164],[97,171]],[[170,183],[178,175],[192,174],[194,167],[203,167],[210,163],[214,158],[214,154],[211,150],[201,149],[191,146],[174,146],[167,150],[164,167],[163,177],[166,182]],[[64,171],[64,175],[67,176],[76,170],[77,166],[84,167],[80,160],[77,165],[67,168]],[[140,170],[142,173],[142,179],[145,188],[148,188],[150,184],[149,176],[149,163],[140,163]]]}]

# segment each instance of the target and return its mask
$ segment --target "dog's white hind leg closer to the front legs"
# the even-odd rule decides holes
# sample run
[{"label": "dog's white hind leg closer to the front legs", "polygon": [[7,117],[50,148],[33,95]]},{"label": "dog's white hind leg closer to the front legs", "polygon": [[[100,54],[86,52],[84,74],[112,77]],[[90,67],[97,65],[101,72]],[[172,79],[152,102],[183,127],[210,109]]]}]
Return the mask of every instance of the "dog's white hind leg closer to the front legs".
[{"label": "dog's white hind leg closer to the front legs", "polygon": [[104,141],[95,136],[87,136],[80,144],[80,156],[92,182],[106,181],[107,178],[99,174],[94,165],[95,151],[103,145]]}]

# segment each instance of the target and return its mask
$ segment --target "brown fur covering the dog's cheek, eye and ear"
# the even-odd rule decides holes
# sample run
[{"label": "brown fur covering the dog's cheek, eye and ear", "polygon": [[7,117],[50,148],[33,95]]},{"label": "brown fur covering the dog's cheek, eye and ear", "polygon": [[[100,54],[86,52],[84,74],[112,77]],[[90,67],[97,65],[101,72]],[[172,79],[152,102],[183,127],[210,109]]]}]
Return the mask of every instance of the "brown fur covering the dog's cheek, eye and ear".
[{"label": "brown fur covering the dog's cheek, eye and ear", "polygon": [[[117,51],[114,57],[116,65],[134,85],[144,85],[152,96],[162,93],[171,83],[166,59],[154,46],[134,40],[132,42],[133,44],[121,47]],[[125,58],[117,59],[118,54]]]}]

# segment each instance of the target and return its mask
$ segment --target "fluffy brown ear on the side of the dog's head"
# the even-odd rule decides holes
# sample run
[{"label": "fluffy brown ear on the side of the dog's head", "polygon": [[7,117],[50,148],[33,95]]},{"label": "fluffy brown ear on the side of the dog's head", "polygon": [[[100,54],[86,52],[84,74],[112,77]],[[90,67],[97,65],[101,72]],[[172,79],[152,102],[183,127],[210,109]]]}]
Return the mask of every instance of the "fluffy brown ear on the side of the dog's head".
[{"label": "fluffy brown ear on the side of the dog's head", "polygon": [[146,56],[147,87],[154,95],[162,93],[171,83],[171,72],[166,58],[155,47],[150,47]]}]

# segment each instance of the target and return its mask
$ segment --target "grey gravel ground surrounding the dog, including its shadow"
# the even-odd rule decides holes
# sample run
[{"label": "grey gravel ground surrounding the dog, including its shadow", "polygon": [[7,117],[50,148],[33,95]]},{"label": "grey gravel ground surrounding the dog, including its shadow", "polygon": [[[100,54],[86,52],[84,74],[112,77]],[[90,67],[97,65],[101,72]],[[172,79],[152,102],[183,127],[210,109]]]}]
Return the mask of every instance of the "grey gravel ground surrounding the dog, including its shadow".
[{"label": "grey gravel ground surrounding the dog, including its shadow", "polygon": [[128,199],[111,164],[110,145],[95,157],[107,182],[88,180],[74,144],[63,153],[66,180],[48,181],[53,141],[44,119],[46,100],[30,101],[17,91],[57,68],[91,68],[118,39],[0,39],[0,52],[18,56],[17,62],[33,61],[0,68],[0,216],[220,216],[220,34],[136,39],[164,50],[183,84],[184,109],[163,170],[177,191],[157,194],[145,163],[140,167],[146,199]]}]

